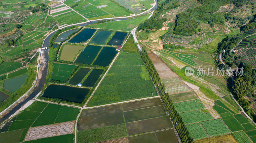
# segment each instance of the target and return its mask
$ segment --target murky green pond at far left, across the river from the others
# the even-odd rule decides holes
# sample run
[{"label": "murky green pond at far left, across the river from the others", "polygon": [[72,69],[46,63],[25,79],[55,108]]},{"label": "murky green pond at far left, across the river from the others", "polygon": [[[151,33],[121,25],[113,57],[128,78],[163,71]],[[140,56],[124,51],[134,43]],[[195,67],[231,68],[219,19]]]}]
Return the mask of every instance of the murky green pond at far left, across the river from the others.
[{"label": "murky green pond at far left, across the river from the others", "polygon": [[7,92],[14,93],[17,91],[22,84],[25,82],[27,75],[22,75],[20,77],[15,77],[12,79],[7,79],[4,81],[4,90]]}]

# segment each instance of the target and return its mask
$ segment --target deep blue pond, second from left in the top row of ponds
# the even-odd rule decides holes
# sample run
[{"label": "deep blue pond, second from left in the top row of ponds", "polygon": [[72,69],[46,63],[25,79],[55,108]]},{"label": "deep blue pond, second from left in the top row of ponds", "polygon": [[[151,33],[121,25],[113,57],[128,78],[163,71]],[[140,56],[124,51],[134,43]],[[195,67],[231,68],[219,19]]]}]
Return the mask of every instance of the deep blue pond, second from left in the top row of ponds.
[{"label": "deep blue pond, second from left in the top row of ponds", "polygon": [[81,43],[90,39],[95,32],[95,29],[84,29],[82,32],[77,34],[73,39],[69,41],[69,43]]}]

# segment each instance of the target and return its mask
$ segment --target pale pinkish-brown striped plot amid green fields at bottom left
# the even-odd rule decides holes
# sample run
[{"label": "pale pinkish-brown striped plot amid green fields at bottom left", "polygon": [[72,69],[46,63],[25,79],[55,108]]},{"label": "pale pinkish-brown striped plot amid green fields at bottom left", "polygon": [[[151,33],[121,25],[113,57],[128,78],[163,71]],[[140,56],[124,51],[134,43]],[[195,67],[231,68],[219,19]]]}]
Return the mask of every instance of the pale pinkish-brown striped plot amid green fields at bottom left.
[{"label": "pale pinkish-brown striped plot amid green fields at bottom left", "polygon": [[74,133],[75,121],[29,128],[25,141]]}]

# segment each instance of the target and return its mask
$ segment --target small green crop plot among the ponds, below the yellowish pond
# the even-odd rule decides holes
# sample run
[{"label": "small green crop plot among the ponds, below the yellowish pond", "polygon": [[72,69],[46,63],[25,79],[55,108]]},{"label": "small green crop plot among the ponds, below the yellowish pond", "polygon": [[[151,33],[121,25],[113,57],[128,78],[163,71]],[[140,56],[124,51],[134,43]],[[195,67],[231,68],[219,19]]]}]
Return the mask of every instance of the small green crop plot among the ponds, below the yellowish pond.
[{"label": "small green crop plot among the ponds, below the yellowish pond", "polygon": [[65,82],[76,65],[54,63],[51,80]]}]

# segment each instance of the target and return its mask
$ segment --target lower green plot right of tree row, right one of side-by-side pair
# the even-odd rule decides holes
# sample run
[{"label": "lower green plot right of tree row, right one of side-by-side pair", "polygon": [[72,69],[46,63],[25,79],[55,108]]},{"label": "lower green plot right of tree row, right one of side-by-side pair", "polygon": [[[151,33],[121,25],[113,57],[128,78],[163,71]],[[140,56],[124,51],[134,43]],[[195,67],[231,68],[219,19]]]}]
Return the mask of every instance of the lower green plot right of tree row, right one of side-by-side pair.
[{"label": "lower green plot right of tree row, right one of side-by-side pair", "polygon": [[200,124],[204,127],[205,131],[210,137],[230,132],[226,125],[224,125],[224,123],[221,121],[221,119],[204,121],[200,122]]}]

